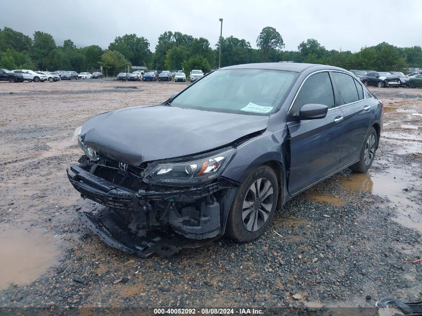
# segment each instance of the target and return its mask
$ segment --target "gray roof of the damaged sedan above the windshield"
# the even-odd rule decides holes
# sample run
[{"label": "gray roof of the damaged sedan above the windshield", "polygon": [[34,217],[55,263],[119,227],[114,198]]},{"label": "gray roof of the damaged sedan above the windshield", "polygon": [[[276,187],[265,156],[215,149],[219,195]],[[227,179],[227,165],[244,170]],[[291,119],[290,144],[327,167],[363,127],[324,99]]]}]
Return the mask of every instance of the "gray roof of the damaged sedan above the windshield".
[{"label": "gray roof of the damaged sedan above the windshield", "polygon": [[269,70],[284,70],[284,71],[294,71],[302,72],[306,69],[318,68],[315,70],[321,69],[333,69],[333,70],[345,70],[343,68],[313,64],[313,63],[301,63],[301,62],[260,62],[260,63],[248,63],[234,66],[227,66],[221,69],[269,69]]}]

